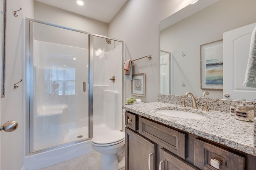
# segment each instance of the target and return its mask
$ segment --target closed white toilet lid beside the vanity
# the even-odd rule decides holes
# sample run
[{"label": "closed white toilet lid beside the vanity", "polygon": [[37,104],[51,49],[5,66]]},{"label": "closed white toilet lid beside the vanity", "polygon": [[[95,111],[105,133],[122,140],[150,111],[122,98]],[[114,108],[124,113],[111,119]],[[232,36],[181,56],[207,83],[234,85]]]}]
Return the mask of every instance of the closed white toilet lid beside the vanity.
[{"label": "closed white toilet lid beside the vanity", "polygon": [[115,143],[124,139],[124,133],[120,130],[112,130],[94,136],[92,142],[95,144]]}]

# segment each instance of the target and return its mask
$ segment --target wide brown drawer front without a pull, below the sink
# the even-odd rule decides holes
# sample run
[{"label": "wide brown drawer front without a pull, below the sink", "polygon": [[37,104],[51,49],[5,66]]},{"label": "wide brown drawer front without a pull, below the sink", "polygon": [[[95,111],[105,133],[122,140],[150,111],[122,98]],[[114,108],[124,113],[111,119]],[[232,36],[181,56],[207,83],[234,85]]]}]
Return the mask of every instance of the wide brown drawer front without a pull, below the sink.
[{"label": "wide brown drawer front without a pull, below the sink", "polygon": [[139,133],[170,152],[186,158],[186,134],[139,117]]}]

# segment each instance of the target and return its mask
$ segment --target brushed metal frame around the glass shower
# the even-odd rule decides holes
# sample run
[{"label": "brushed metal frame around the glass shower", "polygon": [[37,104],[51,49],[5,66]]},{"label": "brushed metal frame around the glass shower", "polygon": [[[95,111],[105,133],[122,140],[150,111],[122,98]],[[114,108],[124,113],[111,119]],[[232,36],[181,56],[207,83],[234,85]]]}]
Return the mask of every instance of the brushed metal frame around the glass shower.
[{"label": "brushed metal frame around the glass shower", "polygon": [[[30,115],[31,111],[33,111],[33,105],[30,105],[30,101],[33,101],[33,81],[31,80],[31,76],[33,75],[33,67],[30,67],[30,63],[33,63],[33,44],[30,43],[33,41],[33,35],[34,35],[34,23],[40,23],[40,24],[45,24],[48,26],[54,26],[57,28],[62,28],[62,29],[66,29],[66,30],[70,30],[70,31],[74,31],[74,32],[80,32],[80,33],[84,33],[84,34],[88,34],[89,36],[89,82],[88,82],[88,89],[89,89],[89,100],[88,100],[88,112],[89,112],[89,138],[88,139],[84,139],[84,140],[79,140],[76,142],[70,142],[70,143],[66,143],[66,144],[61,144],[60,146],[53,146],[53,147],[49,147],[46,149],[42,149],[42,150],[38,150],[38,151],[33,151],[33,115]],[[106,36],[101,36],[98,34],[92,34],[89,32],[84,32],[81,30],[76,30],[73,28],[68,28],[68,27],[64,27],[64,26],[59,26],[57,24],[51,24],[48,22],[42,22],[39,20],[34,20],[34,19],[30,19],[30,18],[26,18],[25,19],[25,125],[26,125],[26,130],[25,130],[25,134],[26,134],[26,156],[29,155],[33,155],[33,154],[38,154],[41,152],[46,152],[48,150],[53,150],[56,148],[61,148],[64,146],[68,146],[68,145],[72,145],[72,144],[76,144],[76,143],[80,143],[80,142],[84,142],[86,140],[90,140],[93,137],[93,49],[94,49],[94,44],[93,44],[93,37],[100,37],[100,38],[106,38],[109,40],[113,40],[113,41],[118,41],[122,43],[122,63],[124,63],[124,55],[125,55],[125,42],[122,40],[117,40],[114,38],[110,38],[110,37],[106,37]],[[122,105],[124,105],[124,73],[122,73]],[[122,116],[122,130],[123,130],[123,125],[124,125],[124,118]]]}]

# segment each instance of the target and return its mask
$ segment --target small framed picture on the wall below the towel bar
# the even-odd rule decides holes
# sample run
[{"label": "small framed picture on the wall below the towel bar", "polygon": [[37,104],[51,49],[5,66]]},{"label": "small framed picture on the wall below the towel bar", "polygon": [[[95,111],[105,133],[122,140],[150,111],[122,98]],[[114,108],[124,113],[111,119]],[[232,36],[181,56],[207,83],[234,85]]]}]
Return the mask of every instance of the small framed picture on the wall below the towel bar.
[{"label": "small framed picture on the wall below the towel bar", "polygon": [[145,73],[132,75],[131,81],[131,95],[146,96],[146,76]]}]

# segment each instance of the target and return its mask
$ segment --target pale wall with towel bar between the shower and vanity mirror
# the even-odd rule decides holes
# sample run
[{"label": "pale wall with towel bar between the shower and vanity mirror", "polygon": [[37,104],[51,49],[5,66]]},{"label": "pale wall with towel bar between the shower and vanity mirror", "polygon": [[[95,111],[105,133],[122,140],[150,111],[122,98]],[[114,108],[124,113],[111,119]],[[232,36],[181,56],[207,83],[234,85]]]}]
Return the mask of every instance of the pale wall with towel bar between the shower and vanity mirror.
[{"label": "pale wall with towel bar between the shower and vanity mirror", "polygon": [[[126,59],[135,61],[134,73],[146,73],[144,102],[158,101],[160,93],[160,21],[174,14],[194,0],[128,0],[109,23],[108,36],[126,42]],[[130,81],[126,80],[125,99],[131,97]],[[136,97],[136,96],[134,96]]]}]

